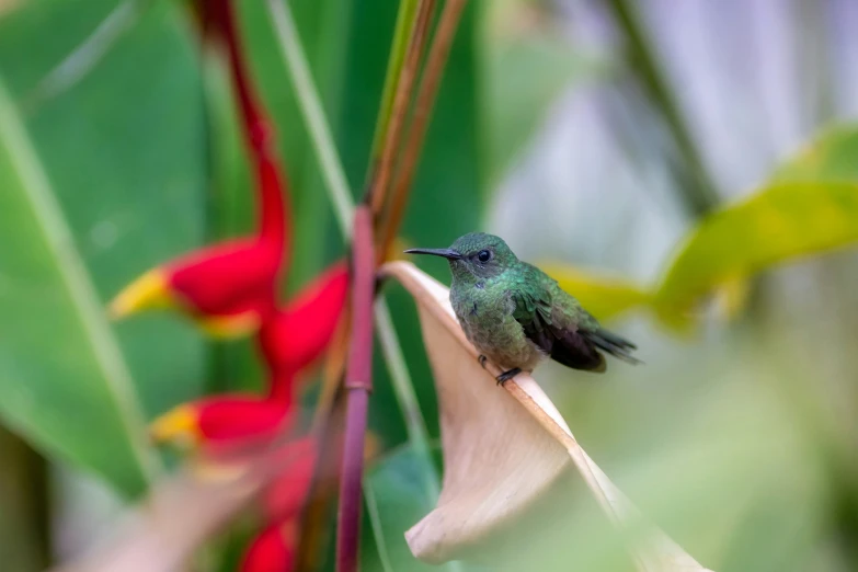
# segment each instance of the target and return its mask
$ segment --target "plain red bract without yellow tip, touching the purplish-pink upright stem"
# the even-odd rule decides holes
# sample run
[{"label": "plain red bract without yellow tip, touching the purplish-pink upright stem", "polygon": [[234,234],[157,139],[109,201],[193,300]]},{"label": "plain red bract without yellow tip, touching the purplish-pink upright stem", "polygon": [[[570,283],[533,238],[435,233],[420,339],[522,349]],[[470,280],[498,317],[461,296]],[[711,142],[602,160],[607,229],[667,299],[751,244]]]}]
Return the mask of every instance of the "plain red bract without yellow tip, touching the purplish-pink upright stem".
[{"label": "plain red bract without yellow tip, touching the purplish-pink upright stem", "polygon": [[275,381],[272,397],[290,390],[279,377],[295,379],[316,362],[333,336],[348,291],[348,267],[336,263],[299,291],[287,306],[266,320],[259,345]]}]

